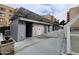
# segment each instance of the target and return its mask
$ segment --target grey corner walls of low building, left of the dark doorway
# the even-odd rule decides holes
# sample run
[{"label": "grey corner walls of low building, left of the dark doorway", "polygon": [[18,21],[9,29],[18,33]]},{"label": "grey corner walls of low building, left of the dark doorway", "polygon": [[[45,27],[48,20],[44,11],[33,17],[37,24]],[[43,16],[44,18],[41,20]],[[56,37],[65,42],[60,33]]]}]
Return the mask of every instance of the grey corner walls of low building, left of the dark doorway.
[{"label": "grey corner walls of low building, left of the dark doorway", "polygon": [[11,31],[11,36],[16,40],[16,41],[22,41],[25,39],[25,23],[19,23],[19,21],[16,19],[11,23],[10,26],[10,31]]}]

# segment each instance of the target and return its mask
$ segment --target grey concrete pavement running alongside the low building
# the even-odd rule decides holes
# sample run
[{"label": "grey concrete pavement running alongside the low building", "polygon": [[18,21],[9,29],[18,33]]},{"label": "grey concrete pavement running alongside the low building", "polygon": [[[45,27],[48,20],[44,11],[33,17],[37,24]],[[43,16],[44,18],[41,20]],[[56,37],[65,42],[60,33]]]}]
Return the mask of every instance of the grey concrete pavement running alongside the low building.
[{"label": "grey concrete pavement running alongside the low building", "polygon": [[60,55],[65,50],[62,45],[63,39],[64,32],[62,30],[31,37],[15,44],[15,54]]}]

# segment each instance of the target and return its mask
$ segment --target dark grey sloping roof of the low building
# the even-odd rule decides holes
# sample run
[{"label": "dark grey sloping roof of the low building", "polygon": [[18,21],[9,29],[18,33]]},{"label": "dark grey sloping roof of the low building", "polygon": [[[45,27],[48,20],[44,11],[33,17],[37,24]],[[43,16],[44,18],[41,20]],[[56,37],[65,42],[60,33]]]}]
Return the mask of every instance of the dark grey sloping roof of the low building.
[{"label": "dark grey sloping roof of the low building", "polygon": [[12,17],[14,18],[18,18],[18,17],[22,17],[22,18],[28,18],[28,19],[32,19],[32,20],[36,20],[36,21],[41,21],[41,22],[46,22],[49,23],[49,20],[32,12],[29,11],[23,7],[20,7],[14,14],[14,16]]}]

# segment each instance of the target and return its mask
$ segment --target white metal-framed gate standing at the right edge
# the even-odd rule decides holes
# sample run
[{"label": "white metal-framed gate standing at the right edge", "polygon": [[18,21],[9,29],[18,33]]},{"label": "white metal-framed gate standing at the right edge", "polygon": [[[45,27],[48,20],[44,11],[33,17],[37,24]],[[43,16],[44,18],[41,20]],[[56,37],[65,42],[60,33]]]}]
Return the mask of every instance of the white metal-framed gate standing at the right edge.
[{"label": "white metal-framed gate standing at the right edge", "polygon": [[67,54],[79,54],[78,21],[79,15],[73,17],[72,20],[64,27],[65,37],[67,38]]}]

